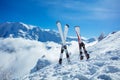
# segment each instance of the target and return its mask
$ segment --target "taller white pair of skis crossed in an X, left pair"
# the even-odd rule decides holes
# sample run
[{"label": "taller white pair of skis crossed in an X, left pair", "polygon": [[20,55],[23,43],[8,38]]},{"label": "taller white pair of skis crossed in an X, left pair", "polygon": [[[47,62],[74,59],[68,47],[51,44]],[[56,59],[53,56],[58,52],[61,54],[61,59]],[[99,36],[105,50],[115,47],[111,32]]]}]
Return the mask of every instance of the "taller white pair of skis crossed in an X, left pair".
[{"label": "taller white pair of skis crossed in an X, left pair", "polygon": [[59,58],[59,64],[62,64],[62,57],[63,57],[63,52],[65,51],[66,53],[66,58],[68,60],[68,62],[70,62],[70,56],[67,50],[67,46],[66,46],[66,37],[67,37],[67,33],[68,33],[68,29],[69,29],[69,25],[66,24],[64,27],[64,33],[62,30],[62,26],[61,23],[59,21],[56,22],[57,27],[58,27],[58,31],[62,40],[62,47],[61,47],[61,54],[60,54],[60,58]]}]

